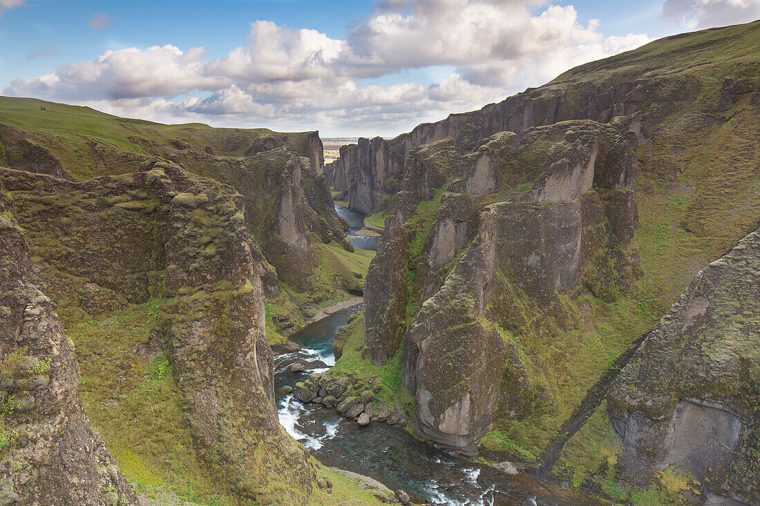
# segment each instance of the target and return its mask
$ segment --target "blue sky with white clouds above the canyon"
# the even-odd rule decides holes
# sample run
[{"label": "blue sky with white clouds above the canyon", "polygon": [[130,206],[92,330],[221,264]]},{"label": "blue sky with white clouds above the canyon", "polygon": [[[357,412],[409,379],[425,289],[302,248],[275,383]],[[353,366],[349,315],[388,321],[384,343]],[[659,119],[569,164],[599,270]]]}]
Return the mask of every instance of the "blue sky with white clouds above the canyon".
[{"label": "blue sky with white clouds above the canyon", "polygon": [[392,137],[760,0],[0,0],[0,95]]}]

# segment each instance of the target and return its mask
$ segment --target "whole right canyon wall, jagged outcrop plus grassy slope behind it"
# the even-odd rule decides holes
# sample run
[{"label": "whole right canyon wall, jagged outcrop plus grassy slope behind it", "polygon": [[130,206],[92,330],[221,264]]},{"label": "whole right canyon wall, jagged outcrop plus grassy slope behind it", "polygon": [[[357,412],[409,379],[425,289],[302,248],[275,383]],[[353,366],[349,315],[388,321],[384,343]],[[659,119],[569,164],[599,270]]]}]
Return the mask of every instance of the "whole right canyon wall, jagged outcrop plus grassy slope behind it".
[{"label": "whole right canyon wall, jagged outcrop plus grassy slope behind it", "polygon": [[[363,354],[401,362],[420,435],[536,460],[700,266],[756,227],[758,47],[760,22],[673,36],[341,150],[335,189],[386,217]],[[624,478],[598,473],[619,452],[603,409],[556,474]]]}]

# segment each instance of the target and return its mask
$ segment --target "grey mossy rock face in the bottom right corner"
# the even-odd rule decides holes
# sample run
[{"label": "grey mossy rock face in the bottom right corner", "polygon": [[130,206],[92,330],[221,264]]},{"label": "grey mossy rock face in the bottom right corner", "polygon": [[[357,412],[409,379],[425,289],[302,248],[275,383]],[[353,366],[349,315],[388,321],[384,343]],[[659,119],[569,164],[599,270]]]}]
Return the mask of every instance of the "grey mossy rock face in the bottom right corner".
[{"label": "grey mossy rock face in the bottom right corner", "polygon": [[679,466],[760,501],[760,231],[695,276],[622,370],[607,412],[638,482]]}]

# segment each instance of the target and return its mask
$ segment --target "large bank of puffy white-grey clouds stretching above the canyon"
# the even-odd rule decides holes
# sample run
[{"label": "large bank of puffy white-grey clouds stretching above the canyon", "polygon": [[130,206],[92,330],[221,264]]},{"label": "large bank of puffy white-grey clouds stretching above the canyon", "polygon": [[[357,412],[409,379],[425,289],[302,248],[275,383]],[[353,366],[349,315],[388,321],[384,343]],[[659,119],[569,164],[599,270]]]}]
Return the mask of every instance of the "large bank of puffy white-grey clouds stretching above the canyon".
[{"label": "large bank of puffy white-grey clouds stretching above the canyon", "polygon": [[[255,21],[245,43],[219,59],[207,59],[202,48],[132,47],[17,79],[0,93],[158,121],[387,134],[475,109],[649,40],[605,36],[598,21],[580,24],[572,6],[545,4],[380,0],[344,39]],[[430,67],[451,70],[430,84],[357,84]]]}]

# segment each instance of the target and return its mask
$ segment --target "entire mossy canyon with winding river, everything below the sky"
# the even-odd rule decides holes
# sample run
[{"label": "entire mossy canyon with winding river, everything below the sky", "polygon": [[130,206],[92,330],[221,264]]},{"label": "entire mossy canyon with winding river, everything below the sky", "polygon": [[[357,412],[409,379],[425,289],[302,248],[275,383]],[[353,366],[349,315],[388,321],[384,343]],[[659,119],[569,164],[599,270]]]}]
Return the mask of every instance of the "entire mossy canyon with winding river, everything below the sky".
[{"label": "entire mossy canyon with winding river, everything below the sky", "polygon": [[0,97],[0,505],[760,504],[758,48],[328,164]]}]

